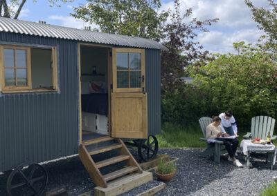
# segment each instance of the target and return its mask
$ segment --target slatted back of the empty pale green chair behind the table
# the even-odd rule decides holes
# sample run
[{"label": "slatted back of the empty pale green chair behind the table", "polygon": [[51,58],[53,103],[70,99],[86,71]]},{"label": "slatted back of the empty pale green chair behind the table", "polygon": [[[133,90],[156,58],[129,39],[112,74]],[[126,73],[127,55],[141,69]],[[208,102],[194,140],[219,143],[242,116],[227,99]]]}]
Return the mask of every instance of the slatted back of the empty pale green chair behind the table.
[{"label": "slatted back of the empty pale green chair behind the table", "polygon": [[253,117],[251,119],[251,135],[252,138],[267,139],[268,133],[273,136],[275,119],[271,117]]}]

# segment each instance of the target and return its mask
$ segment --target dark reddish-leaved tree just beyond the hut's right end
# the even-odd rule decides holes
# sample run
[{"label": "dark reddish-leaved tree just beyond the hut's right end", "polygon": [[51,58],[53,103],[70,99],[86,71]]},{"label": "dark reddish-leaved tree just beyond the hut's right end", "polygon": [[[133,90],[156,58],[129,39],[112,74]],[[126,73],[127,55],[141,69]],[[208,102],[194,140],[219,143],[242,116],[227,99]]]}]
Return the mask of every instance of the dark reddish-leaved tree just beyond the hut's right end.
[{"label": "dark reddish-leaved tree just beyond the hut's right end", "polygon": [[166,24],[163,33],[166,36],[163,39],[163,45],[168,50],[161,52],[161,90],[162,94],[167,92],[184,92],[184,82],[181,77],[184,76],[184,70],[191,63],[196,61],[205,61],[208,51],[203,51],[203,46],[195,41],[197,33],[207,32],[206,26],[211,26],[218,19],[207,19],[199,21],[194,18],[189,23],[184,23],[184,19],[190,17],[193,10],[188,9],[183,17],[179,12],[179,0],[175,1],[175,12],[171,14],[170,23]]}]

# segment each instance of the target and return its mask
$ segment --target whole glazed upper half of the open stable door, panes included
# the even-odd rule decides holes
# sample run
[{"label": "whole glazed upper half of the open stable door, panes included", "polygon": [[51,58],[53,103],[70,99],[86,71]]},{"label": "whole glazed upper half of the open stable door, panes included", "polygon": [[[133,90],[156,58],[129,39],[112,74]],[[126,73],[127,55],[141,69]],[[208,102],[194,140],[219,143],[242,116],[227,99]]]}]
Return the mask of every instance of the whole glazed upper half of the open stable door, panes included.
[{"label": "whole glazed upper half of the open stable door, panes included", "polygon": [[114,92],[144,91],[144,50],[114,48],[113,54]]}]

